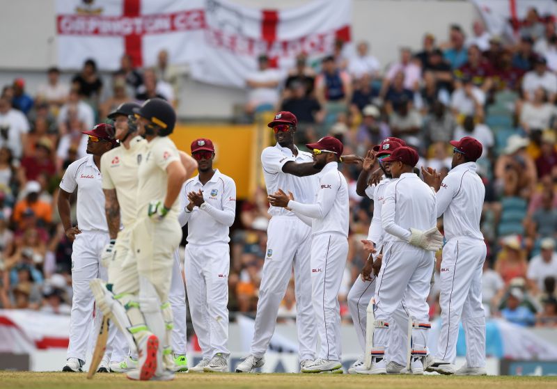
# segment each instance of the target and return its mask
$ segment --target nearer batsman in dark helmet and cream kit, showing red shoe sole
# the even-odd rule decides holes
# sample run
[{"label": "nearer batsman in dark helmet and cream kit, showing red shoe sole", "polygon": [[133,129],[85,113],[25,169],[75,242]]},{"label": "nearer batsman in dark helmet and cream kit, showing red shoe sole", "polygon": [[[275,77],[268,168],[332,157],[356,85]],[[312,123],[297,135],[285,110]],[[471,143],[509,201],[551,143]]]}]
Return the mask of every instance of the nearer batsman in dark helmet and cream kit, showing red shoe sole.
[{"label": "nearer batsman in dark helmet and cream kit, showing red shoe sole", "polygon": [[98,282],[91,283],[91,289],[99,308],[133,338],[139,351],[138,369],[127,377],[168,381],[174,377],[168,292],[174,252],[182,239],[178,196],[187,172],[168,138],[176,122],[172,106],[154,98],[134,111],[139,116],[138,133],[148,144],[137,157],[137,210],[130,255],[123,261],[112,291]]}]

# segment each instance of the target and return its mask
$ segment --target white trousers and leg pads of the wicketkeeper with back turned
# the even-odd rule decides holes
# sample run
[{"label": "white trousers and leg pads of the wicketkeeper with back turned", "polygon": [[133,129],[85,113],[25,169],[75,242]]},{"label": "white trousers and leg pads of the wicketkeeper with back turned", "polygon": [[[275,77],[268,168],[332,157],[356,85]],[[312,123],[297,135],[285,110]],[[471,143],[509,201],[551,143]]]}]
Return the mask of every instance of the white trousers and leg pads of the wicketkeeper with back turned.
[{"label": "white trousers and leg pads of the wicketkeeper with back turned", "polygon": [[[383,265],[375,289],[375,320],[389,322],[402,306],[407,315],[404,321],[406,326],[402,326],[402,331],[407,328],[409,317],[420,323],[429,323],[429,305],[426,300],[430,293],[434,253],[402,241],[388,242],[383,253]],[[393,339],[390,333],[390,326],[375,328],[373,347],[389,349],[389,340]],[[427,347],[427,330],[412,329],[412,347]],[[407,351],[406,347],[402,350],[404,353]],[[402,360],[397,356],[402,356],[401,350],[392,353],[391,360],[402,365],[406,363],[406,356]]]}]

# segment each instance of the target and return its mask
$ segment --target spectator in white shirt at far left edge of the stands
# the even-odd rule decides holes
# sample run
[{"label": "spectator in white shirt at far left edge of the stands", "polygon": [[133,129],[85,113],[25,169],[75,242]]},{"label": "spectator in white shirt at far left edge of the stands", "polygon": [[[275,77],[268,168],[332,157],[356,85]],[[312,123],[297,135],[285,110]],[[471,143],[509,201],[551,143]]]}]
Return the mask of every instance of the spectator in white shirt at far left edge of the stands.
[{"label": "spectator in white shirt at far left edge of the stands", "polygon": [[0,148],[7,147],[20,159],[27,141],[29,122],[21,111],[11,107],[10,100],[0,97]]}]

